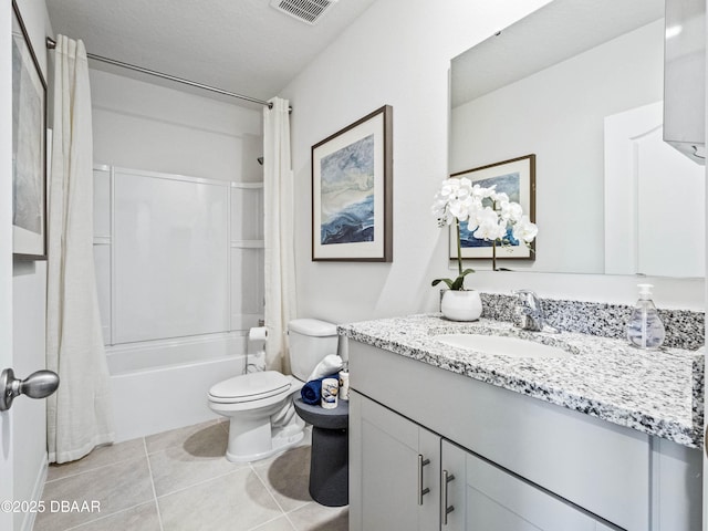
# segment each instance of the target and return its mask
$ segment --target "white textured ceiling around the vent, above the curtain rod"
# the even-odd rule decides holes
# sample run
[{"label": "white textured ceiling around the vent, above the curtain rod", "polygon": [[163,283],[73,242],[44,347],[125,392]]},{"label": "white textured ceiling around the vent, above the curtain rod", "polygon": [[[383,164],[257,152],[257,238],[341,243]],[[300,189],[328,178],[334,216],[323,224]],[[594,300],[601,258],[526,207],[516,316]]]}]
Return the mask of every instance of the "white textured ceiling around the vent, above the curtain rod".
[{"label": "white textured ceiling around the vent, above the curtain rod", "polygon": [[[46,0],[46,6],[54,32],[82,39],[88,53],[269,100],[373,1],[340,0],[315,25],[273,9],[270,0]],[[91,66],[118,72],[96,61]]]}]

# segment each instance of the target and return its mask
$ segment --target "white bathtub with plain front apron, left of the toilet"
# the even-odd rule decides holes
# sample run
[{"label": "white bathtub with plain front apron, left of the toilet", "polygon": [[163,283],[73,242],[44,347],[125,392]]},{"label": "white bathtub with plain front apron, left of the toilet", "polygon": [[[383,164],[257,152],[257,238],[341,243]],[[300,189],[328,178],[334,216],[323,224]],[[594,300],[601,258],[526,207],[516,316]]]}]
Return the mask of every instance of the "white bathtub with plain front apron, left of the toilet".
[{"label": "white bathtub with plain front apron, left of the toilet", "polygon": [[116,442],[219,418],[207,392],[242,373],[246,347],[240,333],[106,346]]}]

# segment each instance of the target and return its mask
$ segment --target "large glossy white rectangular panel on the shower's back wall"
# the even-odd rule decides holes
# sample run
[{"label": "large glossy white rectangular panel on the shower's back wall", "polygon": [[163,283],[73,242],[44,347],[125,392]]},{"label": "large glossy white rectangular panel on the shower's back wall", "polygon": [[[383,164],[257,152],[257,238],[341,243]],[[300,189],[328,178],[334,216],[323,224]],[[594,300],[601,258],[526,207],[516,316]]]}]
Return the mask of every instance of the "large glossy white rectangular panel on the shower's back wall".
[{"label": "large glossy white rectangular panel on the shower's back wall", "polygon": [[116,170],[113,341],[228,324],[228,183]]}]

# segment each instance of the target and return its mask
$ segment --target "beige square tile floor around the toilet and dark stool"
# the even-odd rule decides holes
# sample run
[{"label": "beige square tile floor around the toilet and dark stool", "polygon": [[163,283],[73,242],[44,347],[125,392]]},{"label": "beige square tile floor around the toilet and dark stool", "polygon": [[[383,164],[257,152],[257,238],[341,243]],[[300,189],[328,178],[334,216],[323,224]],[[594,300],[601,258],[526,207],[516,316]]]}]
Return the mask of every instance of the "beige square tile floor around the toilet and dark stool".
[{"label": "beige square tile floor around the toilet and dark stool", "polygon": [[[228,424],[214,420],[98,448],[51,466],[42,499],[98,502],[45,511],[34,531],[346,531],[348,510],[312,501],[310,446],[252,464],[226,460]],[[309,430],[308,430],[309,431]]]}]

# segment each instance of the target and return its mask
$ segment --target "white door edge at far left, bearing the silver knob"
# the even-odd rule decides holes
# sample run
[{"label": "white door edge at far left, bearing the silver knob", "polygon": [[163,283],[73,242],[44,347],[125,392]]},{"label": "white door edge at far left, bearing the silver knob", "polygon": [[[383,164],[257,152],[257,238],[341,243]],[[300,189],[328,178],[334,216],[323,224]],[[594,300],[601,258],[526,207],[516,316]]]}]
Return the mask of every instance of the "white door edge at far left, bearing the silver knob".
[{"label": "white door edge at far left, bearing the silver knob", "polygon": [[[12,116],[12,3],[0,2],[0,116]],[[12,121],[0,119],[0,369],[12,366]],[[14,493],[12,412],[0,413],[0,503]],[[0,529],[13,529],[0,506]]]}]

